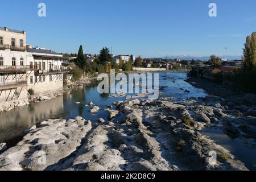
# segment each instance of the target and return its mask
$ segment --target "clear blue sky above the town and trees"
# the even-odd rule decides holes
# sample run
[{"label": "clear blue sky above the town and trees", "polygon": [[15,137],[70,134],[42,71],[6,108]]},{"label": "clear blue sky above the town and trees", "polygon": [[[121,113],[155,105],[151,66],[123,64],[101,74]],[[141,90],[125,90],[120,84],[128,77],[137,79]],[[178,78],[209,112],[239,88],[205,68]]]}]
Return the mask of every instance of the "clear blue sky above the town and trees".
[{"label": "clear blue sky above the town and trees", "polygon": [[[47,16],[38,16],[38,3]],[[209,3],[217,17],[209,17]],[[143,57],[242,55],[256,31],[255,0],[13,0],[1,1],[0,26],[27,31],[27,43],[57,52]],[[3,8],[4,7],[4,8]]]}]

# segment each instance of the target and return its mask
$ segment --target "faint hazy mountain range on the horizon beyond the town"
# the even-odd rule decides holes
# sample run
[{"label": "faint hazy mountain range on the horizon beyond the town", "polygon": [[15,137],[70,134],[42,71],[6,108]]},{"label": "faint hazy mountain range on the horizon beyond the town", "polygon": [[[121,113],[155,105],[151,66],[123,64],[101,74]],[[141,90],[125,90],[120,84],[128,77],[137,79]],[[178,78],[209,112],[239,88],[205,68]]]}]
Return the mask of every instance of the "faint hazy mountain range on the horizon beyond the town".
[{"label": "faint hazy mountain range on the horizon beyond the town", "polygon": [[[218,56],[220,58],[227,58],[228,60],[241,60],[242,56]],[[181,60],[192,60],[192,59],[199,59],[201,61],[208,61],[210,59],[210,56],[202,56],[202,57],[196,57],[196,56],[165,56],[160,57],[163,59],[181,59]]]}]

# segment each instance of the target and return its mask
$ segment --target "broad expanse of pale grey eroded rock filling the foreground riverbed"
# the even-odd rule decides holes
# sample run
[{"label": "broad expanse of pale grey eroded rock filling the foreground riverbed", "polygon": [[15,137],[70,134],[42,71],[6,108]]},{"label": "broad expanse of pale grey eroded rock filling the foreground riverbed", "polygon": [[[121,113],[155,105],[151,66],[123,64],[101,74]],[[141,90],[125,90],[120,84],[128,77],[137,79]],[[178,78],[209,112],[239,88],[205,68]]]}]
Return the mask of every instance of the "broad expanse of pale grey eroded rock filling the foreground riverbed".
[{"label": "broad expanse of pale grey eroded rock filling the foreground riverbed", "polygon": [[[220,97],[181,103],[168,97],[135,99],[115,103],[109,121],[49,119],[28,130],[15,147],[0,150],[0,170],[247,170],[230,151],[200,134],[218,125],[229,135],[256,138],[256,108],[246,106],[246,97],[240,102],[245,105]],[[210,163],[212,152],[217,160]]]}]

